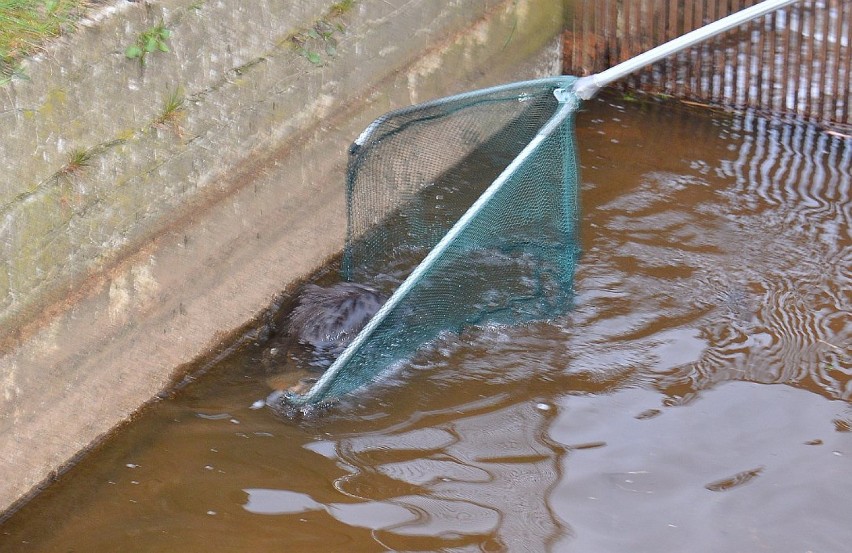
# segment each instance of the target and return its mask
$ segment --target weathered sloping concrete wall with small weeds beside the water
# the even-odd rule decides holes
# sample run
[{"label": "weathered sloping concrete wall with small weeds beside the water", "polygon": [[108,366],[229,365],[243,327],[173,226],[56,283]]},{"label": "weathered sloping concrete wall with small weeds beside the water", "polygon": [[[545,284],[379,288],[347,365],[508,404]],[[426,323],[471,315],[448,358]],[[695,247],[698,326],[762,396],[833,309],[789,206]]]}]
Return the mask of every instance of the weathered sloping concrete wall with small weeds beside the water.
[{"label": "weathered sloping concrete wall with small weeds beside the water", "polygon": [[[127,59],[161,22],[169,52]],[[561,26],[561,0],[120,0],[29,60],[0,88],[0,511],[339,252],[373,118],[556,73]]]}]

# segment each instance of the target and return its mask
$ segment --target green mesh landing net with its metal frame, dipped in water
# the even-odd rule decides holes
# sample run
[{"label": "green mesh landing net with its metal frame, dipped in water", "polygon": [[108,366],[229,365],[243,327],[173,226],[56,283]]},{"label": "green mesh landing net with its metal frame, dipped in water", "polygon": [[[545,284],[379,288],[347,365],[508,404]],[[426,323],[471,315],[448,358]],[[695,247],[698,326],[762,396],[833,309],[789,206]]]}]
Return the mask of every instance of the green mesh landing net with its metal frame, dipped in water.
[{"label": "green mesh landing net with its metal frame, dipped in water", "polygon": [[348,393],[448,331],[565,311],[577,257],[573,81],[444,98],[362,133],[350,150],[342,271],[392,295],[319,381],[285,402]]}]

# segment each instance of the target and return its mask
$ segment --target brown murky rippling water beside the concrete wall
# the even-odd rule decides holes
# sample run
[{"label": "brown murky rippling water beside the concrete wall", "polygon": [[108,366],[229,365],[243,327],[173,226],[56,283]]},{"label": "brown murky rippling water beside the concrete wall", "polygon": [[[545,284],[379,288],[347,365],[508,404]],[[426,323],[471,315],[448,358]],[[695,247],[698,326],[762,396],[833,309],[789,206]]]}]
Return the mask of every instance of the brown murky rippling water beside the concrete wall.
[{"label": "brown murky rippling water beside the concrete wall", "polygon": [[578,118],[561,320],[443,343],[326,417],[260,344],[0,526],[2,551],[852,547],[852,140],[617,100]]}]

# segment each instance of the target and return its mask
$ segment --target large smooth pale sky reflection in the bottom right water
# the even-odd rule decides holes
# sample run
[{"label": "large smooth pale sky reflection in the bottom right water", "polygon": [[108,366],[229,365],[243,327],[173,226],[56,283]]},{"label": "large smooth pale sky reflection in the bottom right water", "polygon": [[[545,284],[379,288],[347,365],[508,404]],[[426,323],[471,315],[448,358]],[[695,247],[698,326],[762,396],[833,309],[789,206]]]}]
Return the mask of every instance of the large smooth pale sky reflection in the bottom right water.
[{"label": "large smooth pale sky reflection in the bottom right water", "polygon": [[607,446],[567,459],[551,502],[575,534],[555,549],[848,549],[852,438],[831,425],[848,404],[734,383],[636,417],[658,402],[641,389],[562,401],[551,438]]}]

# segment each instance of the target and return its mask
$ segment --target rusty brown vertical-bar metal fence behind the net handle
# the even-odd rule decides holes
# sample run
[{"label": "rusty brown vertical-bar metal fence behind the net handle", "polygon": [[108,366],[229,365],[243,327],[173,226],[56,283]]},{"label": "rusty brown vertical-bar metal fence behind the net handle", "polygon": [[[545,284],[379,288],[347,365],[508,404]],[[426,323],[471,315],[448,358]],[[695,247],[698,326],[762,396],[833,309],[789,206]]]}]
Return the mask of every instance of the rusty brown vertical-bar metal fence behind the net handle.
[{"label": "rusty brown vertical-bar metal fence behind the net handle", "polygon": [[[573,0],[564,72],[598,73],[758,0]],[[672,56],[623,86],[852,124],[852,0],[801,0]]]}]

